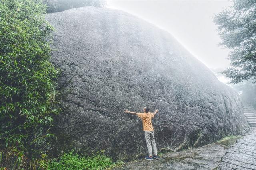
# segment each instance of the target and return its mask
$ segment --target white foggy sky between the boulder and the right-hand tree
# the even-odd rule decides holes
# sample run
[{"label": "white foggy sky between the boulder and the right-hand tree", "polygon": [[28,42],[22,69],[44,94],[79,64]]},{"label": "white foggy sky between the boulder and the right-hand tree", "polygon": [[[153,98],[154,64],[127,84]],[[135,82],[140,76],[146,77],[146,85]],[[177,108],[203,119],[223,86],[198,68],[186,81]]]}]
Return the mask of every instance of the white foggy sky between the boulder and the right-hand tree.
[{"label": "white foggy sky between the boulder and the right-hand tree", "polygon": [[229,66],[228,49],[218,46],[220,38],[212,19],[214,13],[231,4],[230,1],[108,1],[108,8],[129,12],[165,29],[208,68],[224,70]]}]

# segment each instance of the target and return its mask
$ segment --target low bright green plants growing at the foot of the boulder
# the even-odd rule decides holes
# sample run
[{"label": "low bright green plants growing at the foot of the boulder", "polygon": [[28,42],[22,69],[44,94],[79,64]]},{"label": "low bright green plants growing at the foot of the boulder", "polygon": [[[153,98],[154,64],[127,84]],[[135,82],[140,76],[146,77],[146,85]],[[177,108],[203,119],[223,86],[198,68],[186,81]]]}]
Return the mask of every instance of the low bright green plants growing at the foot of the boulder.
[{"label": "low bright green plants growing at the foot of the boulder", "polygon": [[74,151],[65,153],[48,164],[48,170],[86,170],[86,169],[106,169],[120,166],[120,162],[112,162],[112,158],[102,153],[92,156],[79,156]]}]

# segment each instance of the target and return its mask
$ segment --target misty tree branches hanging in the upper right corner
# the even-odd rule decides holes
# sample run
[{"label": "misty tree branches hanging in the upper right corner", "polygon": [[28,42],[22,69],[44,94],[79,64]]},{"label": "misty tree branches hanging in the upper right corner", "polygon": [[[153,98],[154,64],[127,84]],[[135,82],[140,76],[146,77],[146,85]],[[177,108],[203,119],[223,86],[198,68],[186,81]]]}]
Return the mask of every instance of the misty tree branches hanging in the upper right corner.
[{"label": "misty tree branches hanging in the upper right corner", "polygon": [[232,49],[230,68],[224,73],[230,83],[252,78],[256,82],[256,1],[235,0],[230,10],[214,17],[222,39],[220,45]]}]

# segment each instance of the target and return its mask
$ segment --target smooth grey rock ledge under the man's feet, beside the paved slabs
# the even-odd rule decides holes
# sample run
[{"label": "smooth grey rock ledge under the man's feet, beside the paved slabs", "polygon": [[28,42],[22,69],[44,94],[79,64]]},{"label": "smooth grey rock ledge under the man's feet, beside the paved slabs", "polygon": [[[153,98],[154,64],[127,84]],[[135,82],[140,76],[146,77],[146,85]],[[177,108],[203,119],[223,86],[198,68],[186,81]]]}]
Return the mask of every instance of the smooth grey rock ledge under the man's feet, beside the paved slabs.
[{"label": "smooth grey rock ledge under the man's feet, beside the paved slabs", "polygon": [[223,146],[209,144],[199,148],[164,154],[159,160],[140,160],[116,170],[214,170],[225,154]]}]

